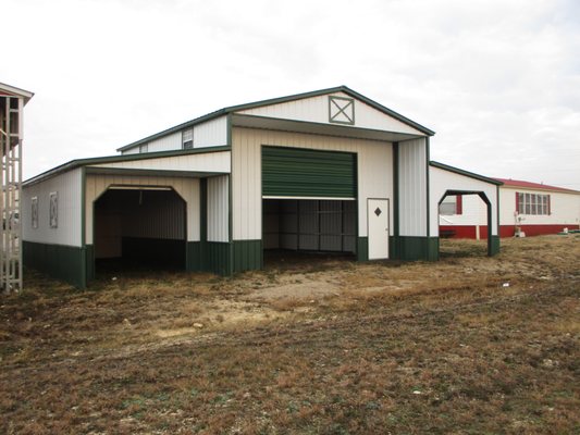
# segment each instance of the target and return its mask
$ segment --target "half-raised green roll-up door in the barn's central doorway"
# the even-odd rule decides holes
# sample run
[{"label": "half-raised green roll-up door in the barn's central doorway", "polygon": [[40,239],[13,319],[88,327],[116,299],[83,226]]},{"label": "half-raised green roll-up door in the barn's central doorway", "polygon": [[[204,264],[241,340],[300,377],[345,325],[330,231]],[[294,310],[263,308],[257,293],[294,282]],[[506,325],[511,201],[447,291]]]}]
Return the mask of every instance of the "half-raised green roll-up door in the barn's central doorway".
[{"label": "half-raised green roll-up door in the barn's central doorway", "polygon": [[356,154],[263,146],[262,196],[354,199]]}]

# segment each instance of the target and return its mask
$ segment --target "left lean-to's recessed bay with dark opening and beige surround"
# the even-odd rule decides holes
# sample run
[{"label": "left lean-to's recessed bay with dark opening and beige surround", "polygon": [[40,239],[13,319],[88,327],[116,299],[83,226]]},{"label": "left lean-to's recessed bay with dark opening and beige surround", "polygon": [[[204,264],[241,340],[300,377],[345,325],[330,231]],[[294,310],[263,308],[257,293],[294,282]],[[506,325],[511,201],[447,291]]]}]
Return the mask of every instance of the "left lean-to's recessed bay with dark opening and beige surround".
[{"label": "left lean-to's recessed bay with dark opening and beige surround", "polygon": [[129,270],[194,270],[200,178],[87,167],[87,278]]}]

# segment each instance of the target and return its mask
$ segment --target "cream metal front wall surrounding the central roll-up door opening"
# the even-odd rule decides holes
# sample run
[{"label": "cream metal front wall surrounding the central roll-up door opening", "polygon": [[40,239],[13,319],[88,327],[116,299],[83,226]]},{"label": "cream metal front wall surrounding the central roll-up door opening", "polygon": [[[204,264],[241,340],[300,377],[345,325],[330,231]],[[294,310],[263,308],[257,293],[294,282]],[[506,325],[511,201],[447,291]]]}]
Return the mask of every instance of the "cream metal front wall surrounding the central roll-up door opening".
[{"label": "cream metal front wall surrounding the central roll-up door opening", "polygon": [[359,199],[358,236],[367,235],[366,199],[393,197],[393,149],[390,142],[301,133],[234,128],[232,145],[232,194],[233,236],[236,240],[257,240],[261,238],[262,145],[356,153],[358,173],[357,196]]}]

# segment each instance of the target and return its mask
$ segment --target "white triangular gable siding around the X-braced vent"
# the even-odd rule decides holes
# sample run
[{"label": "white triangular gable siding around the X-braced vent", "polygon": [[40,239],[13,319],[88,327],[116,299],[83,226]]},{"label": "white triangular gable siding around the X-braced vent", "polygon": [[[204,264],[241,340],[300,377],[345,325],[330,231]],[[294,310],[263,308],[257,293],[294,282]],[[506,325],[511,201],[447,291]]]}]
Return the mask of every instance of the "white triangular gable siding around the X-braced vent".
[{"label": "white triangular gable siding around the X-braced vent", "polygon": [[[335,92],[330,95],[342,98],[351,98],[344,92]],[[329,95],[304,98],[301,100],[294,100],[261,108],[247,109],[236,113],[330,124]],[[359,100],[355,100],[354,126],[359,128],[372,128],[385,132],[408,133],[412,135],[424,136],[424,134],[418,129],[415,129]]]}]

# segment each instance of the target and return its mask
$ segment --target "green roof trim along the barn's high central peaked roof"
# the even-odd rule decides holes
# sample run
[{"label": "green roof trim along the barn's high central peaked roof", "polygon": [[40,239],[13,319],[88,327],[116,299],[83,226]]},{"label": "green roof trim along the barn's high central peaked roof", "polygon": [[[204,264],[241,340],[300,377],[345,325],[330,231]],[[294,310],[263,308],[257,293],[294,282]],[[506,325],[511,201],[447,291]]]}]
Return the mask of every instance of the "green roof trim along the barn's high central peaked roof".
[{"label": "green roof trim along the barn's high central peaked roof", "polygon": [[416,128],[416,129],[418,129],[421,133],[424,133],[428,136],[433,136],[435,134],[435,132],[422,126],[421,124],[418,124],[415,121],[411,121],[408,117],[403,116],[402,114],[399,114],[399,113],[397,113],[397,112],[395,112],[395,111],[393,111],[391,109],[385,108],[384,105],[378,103],[377,101],[373,101],[370,98],[367,98],[363,95],[358,94],[358,92],[354,91],[353,89],[350,89],[350,88],[348,88],[346,86],[337,86],[337,87],[334,87],[334,88],[313,90],[313,91],[310,91],[310,92],[296,94],[296,95],[292,95],[292,96],[287,96],[287,97],[272,98],[272,99],[269,99],[269,100],[255,101],[255,102],[249,102],[249,103],[238,104],[238,105],[230,105],[227,108],[217,110],[215,112],[208,113],[208,114],[206,114],[203,116],[196,117],[195,120],[187,121],[185,123],[175,125],[174,127],[171,127],[171,128],[164,129],[162,132],[156,133],[155,135],[148,136],[148,137],[146,137],[144,139],[137,140],[137,141],[132,142],[132,144],[128,144],[128,145],[126,145],[124,147],[119,148],[118,151],[125,151],[127,149],[137,147],[139,145],[147,144],[147,142],[149,142],[151,140],[159,139],[159,138],[161,138],[163,136],[166,136],[166,135],[170,135],[172,133],[177,133],[181,129],[193,127],[194,125],[201,124],[201,123],[203,123],[206,121],[211,121],[211,120],[214,120],[217,117],[220,117],[220,116],[223,116],[223,115],[227,115],[230,113],[238,112],[238,111],[242,111],[242,110],[249,110],[249,109],[261,108],[261,107],[264,107],[264,105],[280,104],[280,103],[283,103],[283,102],[303,100],[305,98],[319,97],[319,96],[323,96],[323,95],[328,95],[328,94],[334,94],[334,92],[344,92],[344,94],[346,94],[346,95],[348,95],[348,96],[350,96],[353,98],[356,98],[356,99],[362,101],[363,103],[377,109],[378,111],[383,112],[384,114],[386,114],[388,116],[392,116],[395,120],[400,121],[402,123],[404,123],[404,124],[406,124],[406,125],[408,125],[408,126],[410,126],[412,128]]}]

